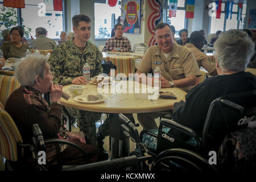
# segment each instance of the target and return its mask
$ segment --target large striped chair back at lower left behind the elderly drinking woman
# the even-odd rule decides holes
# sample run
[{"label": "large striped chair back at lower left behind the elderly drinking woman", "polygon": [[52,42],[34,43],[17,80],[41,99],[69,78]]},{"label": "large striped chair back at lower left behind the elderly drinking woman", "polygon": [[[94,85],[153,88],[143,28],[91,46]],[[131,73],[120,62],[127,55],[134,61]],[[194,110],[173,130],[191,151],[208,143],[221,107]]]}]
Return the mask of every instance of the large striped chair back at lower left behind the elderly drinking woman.
[{"label": "large striped chair back at lower left behind the elderly drinking woman", "polygon": [[7,160],[18,160],[17,143],[22,143],[22,137],[13,119],[0,109],[0,154]]}]

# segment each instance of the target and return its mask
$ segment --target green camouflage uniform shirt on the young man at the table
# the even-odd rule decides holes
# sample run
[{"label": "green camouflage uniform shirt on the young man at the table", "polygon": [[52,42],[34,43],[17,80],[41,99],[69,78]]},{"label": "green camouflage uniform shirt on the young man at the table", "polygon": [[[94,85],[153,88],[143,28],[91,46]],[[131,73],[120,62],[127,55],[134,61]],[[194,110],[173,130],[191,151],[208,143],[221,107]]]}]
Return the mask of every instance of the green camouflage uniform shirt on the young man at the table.
[{"label": "green camouflage uniform shirt on the young man at the table", "polygon": [[48,63],[51,71],[55,72],[53,82],[69,85],[76,77],[82,76],[82,67],[85,63],[90,65],[90,77],[102,73],[102,53],[97,46],[87,42],[84,52],[81,53],[73,40],[61,43],[49,56]]}]

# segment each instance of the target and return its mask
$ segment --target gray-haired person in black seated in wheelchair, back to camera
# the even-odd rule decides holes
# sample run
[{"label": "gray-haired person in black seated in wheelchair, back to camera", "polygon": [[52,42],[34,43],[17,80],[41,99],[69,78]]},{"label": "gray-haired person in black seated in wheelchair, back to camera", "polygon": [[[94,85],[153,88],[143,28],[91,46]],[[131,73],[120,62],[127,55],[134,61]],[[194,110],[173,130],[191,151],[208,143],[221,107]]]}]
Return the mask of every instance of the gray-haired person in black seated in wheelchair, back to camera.
[{"label": "gray-haired person in black seated in wheelchair, back to camera", "polygon": [[[237,152],[244,156],[243,164],[250,160],[255,168],[256,133],[247,126],[255,120],[256,77],[245,72],[254,43],[245,32],[229,30],[220,34],[214,48],[218,76],[195,86],[185,96],[185,102],[175,103],[172,114],[161,119],[159,129],[142,131],[142,143],[153,155],[168,148],[187,148],[208,159],[209,152],[216,152],[218,164],[227,161],[226,155]],[[229,138],[225,138],[227,134]],[[234,145],[232,150],[227,147],[230,142]],[[241,142],[240,146],[236,142]],[[250,150],[250,154],[242,153]]]}]

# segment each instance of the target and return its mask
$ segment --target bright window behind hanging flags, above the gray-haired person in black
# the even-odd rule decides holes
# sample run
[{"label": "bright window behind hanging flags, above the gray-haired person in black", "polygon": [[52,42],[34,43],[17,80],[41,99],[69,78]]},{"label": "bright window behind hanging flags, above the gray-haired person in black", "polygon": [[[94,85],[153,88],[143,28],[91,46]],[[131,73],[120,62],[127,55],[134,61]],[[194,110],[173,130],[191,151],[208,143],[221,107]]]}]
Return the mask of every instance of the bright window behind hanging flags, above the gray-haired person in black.
[{"label": "bright window behind hanging flags, above the gray-haired person in black", "polygon": [[246,4],[243,4],[242,7],[241,21],[237,20],[237,8],[238,5],[233,4],[232,19],[226,19],[226,3],[222,2],[221,18],[216,19],[215,16],[210,17],[210,34],[215,34],[218,30],[243,29],[245,27]]}]

